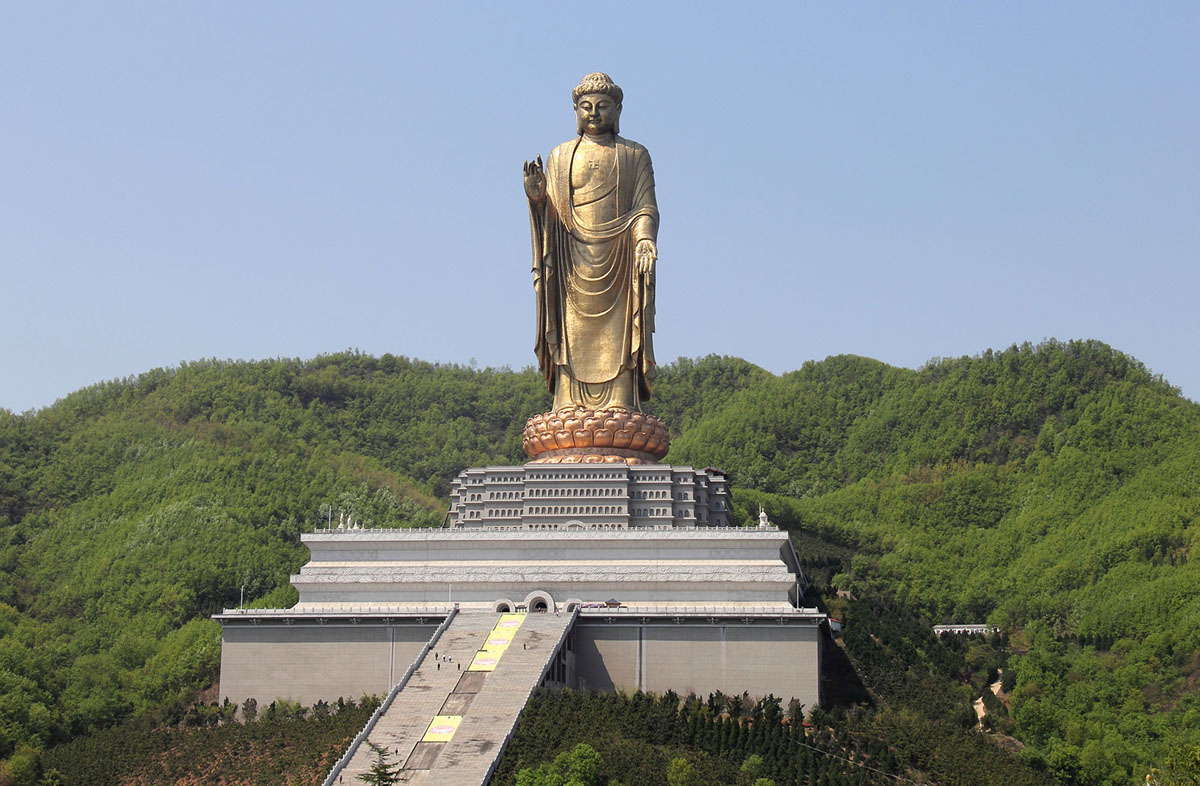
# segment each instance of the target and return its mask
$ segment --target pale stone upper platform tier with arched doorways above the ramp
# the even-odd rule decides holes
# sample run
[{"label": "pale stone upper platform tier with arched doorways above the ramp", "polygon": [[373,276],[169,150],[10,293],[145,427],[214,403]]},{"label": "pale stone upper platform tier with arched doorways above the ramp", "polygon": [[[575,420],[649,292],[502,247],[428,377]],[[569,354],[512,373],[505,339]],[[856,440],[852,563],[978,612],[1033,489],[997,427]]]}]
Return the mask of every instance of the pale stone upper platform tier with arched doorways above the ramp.
[{"label": "pale stone upper platform tier with arched doorways above the ramp", "polygon": [[299,613],[610,600],[656,613],[794,613],[800,581],[787,533],[775,528],[324,530],[302,541],[312,559],[292,577]]}]

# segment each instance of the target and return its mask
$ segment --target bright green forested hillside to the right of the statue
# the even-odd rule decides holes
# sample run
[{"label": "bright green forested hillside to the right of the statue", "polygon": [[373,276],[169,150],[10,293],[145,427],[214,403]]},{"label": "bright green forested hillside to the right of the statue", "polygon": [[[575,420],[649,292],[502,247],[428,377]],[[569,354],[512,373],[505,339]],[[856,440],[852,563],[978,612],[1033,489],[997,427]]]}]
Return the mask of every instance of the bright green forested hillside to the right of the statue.
[{"label": "bright green forested hillside to the right of the statue", "polygon": [[728,409],[671,458],[708,445],[746,512],[852,547],[834,584],[1016,634],[1015,732],[1064,780],[1200,743],[1200,407],[1140,364],[1097,342],[838,358]]}]

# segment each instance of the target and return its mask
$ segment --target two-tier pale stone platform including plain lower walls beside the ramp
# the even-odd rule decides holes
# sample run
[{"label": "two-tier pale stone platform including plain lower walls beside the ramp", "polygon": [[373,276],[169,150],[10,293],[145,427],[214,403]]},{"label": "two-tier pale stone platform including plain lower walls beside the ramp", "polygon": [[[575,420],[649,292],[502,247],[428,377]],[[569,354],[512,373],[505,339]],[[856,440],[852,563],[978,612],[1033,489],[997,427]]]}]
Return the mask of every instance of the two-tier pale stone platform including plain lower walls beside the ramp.
[{"label": "two-tier pale stone platform including plain lower walls beside the ramp", "polygon": [[556,684],[820,701],[824,614],[799,607],[803,576],[786,532],[521,521],[302,535],[312,558],[292,577],[295,607],[216,616],[222,696],[385,694],[458,610],[570,617]]}]

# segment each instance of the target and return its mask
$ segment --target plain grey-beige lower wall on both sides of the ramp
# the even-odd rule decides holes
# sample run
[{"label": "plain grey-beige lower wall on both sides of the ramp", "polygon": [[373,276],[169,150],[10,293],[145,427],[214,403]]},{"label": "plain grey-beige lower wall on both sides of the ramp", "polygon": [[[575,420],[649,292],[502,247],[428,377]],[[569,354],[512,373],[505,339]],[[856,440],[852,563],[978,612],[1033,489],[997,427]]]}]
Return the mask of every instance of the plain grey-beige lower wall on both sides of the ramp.
[{"label": "plain grey-beige lower wall on both sides of the ramp", "polygon": [[[253,696],[308,706],[338,696],[385,695],[433,635],[426,625],[226,625],[221,697]],[[704,697],[720,690],[774,694],[805,707],[820,701],[821,650],[815,624],[736,622],[673,624],[581,618],[566,673],[578,688],[673,690]]]}]

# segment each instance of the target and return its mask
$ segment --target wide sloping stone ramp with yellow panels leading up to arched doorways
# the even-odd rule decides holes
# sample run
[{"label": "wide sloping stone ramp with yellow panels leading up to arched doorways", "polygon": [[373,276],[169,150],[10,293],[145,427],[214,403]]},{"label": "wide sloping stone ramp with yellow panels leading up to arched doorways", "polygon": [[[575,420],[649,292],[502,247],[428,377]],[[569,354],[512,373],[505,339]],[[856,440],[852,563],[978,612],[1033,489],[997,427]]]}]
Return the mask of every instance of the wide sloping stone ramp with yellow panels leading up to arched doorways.
[{"label": "wide sloping stone ramp with yellow panels leading up to arched doorways", "polygon": [[[400,782],[484,786],[529,695],[578,612],[458,612],[366,736],[400,763]],[[326,782],[359,786],[376,752],[359,744]]]}]

